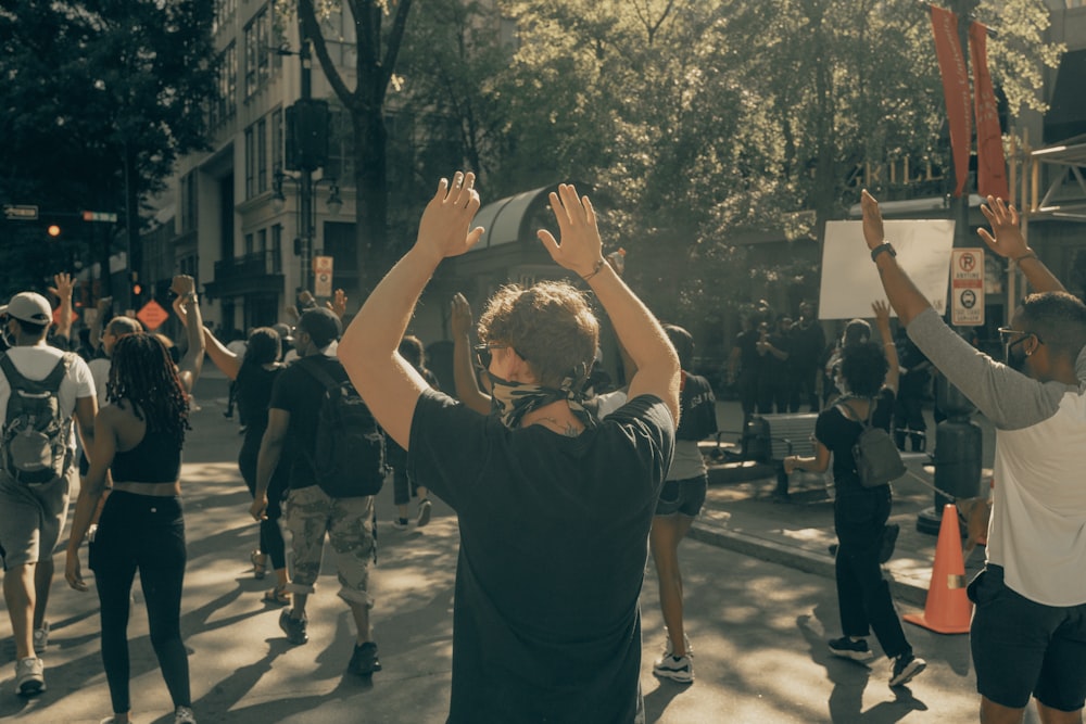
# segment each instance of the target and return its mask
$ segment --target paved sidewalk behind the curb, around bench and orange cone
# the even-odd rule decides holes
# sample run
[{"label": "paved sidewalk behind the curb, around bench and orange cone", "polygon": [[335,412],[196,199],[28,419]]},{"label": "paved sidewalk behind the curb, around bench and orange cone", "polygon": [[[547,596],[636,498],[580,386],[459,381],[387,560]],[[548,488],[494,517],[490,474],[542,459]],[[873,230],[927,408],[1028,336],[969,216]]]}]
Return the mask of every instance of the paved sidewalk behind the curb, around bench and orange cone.
[{"label": "paved sidewalk behind the curb, around bench and orange cone", "polygon": [[[718,402],[717,419],[722,430],[740,430],[742,410],[736,402]],[[984,435],[982,465],[992,466],[994,431],[977,416]],[[929,419],[929,445],[934,443],[934,421]],[[917,530],[917,517],[931,509],[935,495],[917,479],[934,483],[931,468],[924,470],[927,456],[902,455],[910,474],[895,482],[891,523],[900,525],[894,557],[885,566],[895,598],[923,608],[935,560],[935,535]],[[834,560],[829,546],[836,543],[833,532],[833,503],[823,477],[815,473],[793,475],[792,501],[772,499],[775,478],[741,483],[710,483],[702,516],[694,522],[691,537],[761,560],[782,563],[809,573],[834,577]],[[984,564],[984,548],[973,550],[965,561],[967,580]]]}]

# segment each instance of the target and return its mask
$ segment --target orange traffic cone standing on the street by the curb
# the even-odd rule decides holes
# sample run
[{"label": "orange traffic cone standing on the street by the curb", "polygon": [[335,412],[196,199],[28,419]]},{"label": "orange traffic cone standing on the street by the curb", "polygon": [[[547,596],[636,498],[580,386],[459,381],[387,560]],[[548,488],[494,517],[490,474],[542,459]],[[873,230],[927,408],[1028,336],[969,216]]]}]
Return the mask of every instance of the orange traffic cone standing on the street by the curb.
[{"label": "orange traffic cone standing on the street by the curb", "polygon": [[965,561],[961,556],[961,531],[954,505],[943,508],[939,541],[935,546],[935,566],[927,587],[924,612],[907,613],[904,618],[940,634],[969,633],[973,605],[965,596]]}]

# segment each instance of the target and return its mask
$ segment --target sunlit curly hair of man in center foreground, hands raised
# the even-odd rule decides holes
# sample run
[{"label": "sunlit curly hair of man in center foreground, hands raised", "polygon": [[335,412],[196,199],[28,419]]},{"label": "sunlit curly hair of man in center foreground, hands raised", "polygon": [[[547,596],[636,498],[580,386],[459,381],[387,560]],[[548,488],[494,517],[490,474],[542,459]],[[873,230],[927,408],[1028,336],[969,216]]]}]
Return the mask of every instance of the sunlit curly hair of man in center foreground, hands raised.
[{"label": "sunlit curly hair of man in center foreground, hands raised", "polygon": [[479,318],[479,340],[507,344],[531,366],[540,384],[557,388],[584,377],[599,341],[599,322],[582,292],[564,281],[500,289]]}]

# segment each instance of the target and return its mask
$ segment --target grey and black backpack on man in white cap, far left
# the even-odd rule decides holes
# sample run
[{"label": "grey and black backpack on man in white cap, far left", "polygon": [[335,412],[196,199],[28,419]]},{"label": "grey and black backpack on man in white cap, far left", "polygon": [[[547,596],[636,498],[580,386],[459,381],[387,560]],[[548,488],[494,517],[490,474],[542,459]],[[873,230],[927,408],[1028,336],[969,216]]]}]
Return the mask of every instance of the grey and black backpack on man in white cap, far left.
[{"label": "grey and black backpack on man in white cap, far left", "polygon": [[71,364],[72,355],[65,353],[46,379],[28,380],[11,357],[0,356],[0,370],[11,386],[0,433],[0,467],[21,483],[48,483],[72,465],[72,418],[64,418],[58,397]]}]

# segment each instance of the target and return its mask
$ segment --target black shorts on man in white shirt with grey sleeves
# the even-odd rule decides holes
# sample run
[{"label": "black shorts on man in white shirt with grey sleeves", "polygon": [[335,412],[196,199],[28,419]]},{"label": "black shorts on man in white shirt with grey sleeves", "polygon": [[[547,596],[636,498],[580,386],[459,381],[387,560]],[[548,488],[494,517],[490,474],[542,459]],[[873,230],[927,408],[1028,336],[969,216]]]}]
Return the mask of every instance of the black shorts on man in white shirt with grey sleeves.
[{"label": "black shorts on man in white shirt with grey sleeves", "polygon": [[989,564],[973,579],[976,605],[970,648],[976,690],[1022,709],[1032,694],[1046,707],[1077,711],[1086,703],[1086,604],[1044,606],[1011,590],[1003,569]]}]

